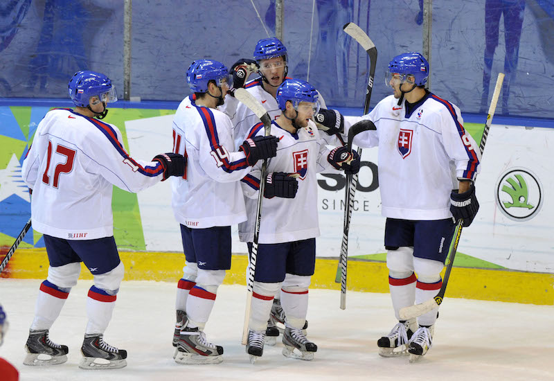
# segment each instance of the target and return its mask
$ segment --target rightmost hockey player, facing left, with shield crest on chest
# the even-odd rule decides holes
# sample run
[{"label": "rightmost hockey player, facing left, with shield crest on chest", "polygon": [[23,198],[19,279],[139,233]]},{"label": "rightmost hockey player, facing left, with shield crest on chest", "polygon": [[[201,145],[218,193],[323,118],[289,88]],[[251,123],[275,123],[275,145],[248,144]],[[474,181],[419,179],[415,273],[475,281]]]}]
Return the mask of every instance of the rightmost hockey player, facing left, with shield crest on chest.
[{"label": "rightmost hockey player, facing left, with shield crest on chest", "polygon": [[460,109],[425,89],[428,76],[420,53],[397,55],[386,77],[394,94],[365,116],[344,118],[345,134],[361,119],[377,127],[354,139],[360,147],[379,148],[388,283],[399,319],[377,346],[384,357],[407,350],[411,361],[431,348],[438,308],[417,321],[401,321],[399,311],[436,296],[455,220],[470,226],[479,210],[473,184],[479,146],[464,129]]}]

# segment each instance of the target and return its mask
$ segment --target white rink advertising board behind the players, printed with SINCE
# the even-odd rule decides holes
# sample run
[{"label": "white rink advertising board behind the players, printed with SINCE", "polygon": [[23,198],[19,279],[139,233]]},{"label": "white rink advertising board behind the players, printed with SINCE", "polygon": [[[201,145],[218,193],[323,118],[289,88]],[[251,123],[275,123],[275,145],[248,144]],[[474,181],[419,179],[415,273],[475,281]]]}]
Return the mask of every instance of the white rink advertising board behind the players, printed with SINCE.
[{"label": "white rink advertising board behind the players, printed with SINCE", "polygon": [[[172,149],[172,120],[173,116],[168,115],[125,122],[131,154],[148,158],[159,152],[169,152]],[[476,181],[481,209],[472,226],[464,229],[458,251],[509,269],[554,272],[554,236],[550,220],[554,214],[554,202],[548,198],[554,194],[554,184],[548,171],[548,158],[552,156],[549,146],[554,144],[553,136],[554,132],[546,128],[526,130],[524,127],[492,126],[481,174]],[[377,163],[377,150],[363,150],[364,161],[369,166],[362,164],[359,174],[359,184],[365,189],[356,193],[357,210],[352,215],[349,234],[350,256],[384,252],[381,199],[378,188],[371,190],[372,185],[375,188],[376,184],[373,184],[373,170],[370,166]],[[542,206],[530,220],[510,220],[497,206],[494,196],[497,182],[510,168],[526,168],[542,184]],[[318,177],[321,236],[317,242],[317,256],[337,257],[343,231],[341,203],[344,200],[344,188],[335,179],[321,174]],[[179,225],[175,222],[170,206],[170,181],[143,190],[138,197],[146,249],[181,251]],[[535,202],[537,200],[528,200],[529,204]],[[233,227],[233,252],[246,253],[246,245],[238,240],[236,231],[237,227]]]}]

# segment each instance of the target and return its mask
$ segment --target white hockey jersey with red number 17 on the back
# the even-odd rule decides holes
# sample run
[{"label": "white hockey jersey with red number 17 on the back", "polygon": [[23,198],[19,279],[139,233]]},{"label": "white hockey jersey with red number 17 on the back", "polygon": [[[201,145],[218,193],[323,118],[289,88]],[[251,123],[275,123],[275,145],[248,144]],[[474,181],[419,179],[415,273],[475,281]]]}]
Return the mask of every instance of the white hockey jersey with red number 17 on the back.
[{"label": "white hockey jersey with red number 17 on the back", "polygon": [[113,236],[112,184],[138,192],[162,175],[159,162],[135,160],[125,152],[116,126],[71,109],[44,116],[21,168],[33,190],[33,229],[69,240]]}]

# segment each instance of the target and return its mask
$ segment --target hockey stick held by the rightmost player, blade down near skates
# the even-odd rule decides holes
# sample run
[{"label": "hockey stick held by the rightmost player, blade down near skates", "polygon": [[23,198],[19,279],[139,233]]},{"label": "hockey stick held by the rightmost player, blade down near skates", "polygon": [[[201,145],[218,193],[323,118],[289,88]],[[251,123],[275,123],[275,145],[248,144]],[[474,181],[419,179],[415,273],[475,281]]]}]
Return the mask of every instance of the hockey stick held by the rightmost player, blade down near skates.
[{"label": "hockey stick held by the rightmost player, blade down near skates", "polygon": [[[492,116],[494,116],[494,110],[497,109],[497,102],[500,96],[500,89],[502,88],[503,80],[504,80],[504,74],[499,73],[497,78],[497,85],[494,87],[494,94],[492,94],[492,100],[490,101],[489,114],[487,116],[487,121],[485,123],[485,128],[483,130],[483,136],[481,136],[481,143],[479,143],[479,151],[481,151],[481,154],[483,154],[483,150],[485,150],[485,143],[487,143],[487,136],[489,134],[490,125],[492,124]],[[443,286],[440,287],[440,290],[437,296],[423,303],[401,308],[400,319],[408,320],[414,317],[421,316],[422,314],[430,312],[434,308],[438,307],[440,303],[443,303],[443,298],[445,297],[445,292],[446,292],[446,286],[448,285],[448,279],[450,278],[450,272],[452,271],[452,266],[454,265],[454,258],[456,257],[456,250],[458,249],[458,242],[460,242],[460,236],[462,235],[462,229],[463,229],[463,219],[460,219],[458,221],[458,224],[456,225],[456,233],[454,234],[454,244],[452,245],[452,248],[448,253],[448,264],[445,271],[445,278],[443,279]]]}]

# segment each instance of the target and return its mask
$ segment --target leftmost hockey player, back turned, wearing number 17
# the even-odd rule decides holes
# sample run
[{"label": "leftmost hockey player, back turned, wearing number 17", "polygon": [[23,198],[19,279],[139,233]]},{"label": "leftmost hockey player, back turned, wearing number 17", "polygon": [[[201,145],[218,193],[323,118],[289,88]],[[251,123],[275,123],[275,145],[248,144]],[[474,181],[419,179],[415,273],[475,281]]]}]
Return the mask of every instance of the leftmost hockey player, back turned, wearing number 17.
[{"label": "leftmost hockey player, back turned, wearing number 17", "polygon": [[106,104],[117,100],[107,76],[78,71],[69,81],[69,96],[75,109],[53,109],[44,116],[21,168],[21,177],[33,191],[33,229],[44,234],[50,262],[24,364],[66,362],[67,346],[52,342],[48,330],[77,284],[84,262],[94,285],[87,298],[89,322],[79,366],[122,368],[127,352],[103,339],[124,274],[114,240],[112,184],[138,192],[170,176],[182,176],[186,159],[168,153],[139,161],[127,154],[118,128],[98,120],[106,116]]}]

